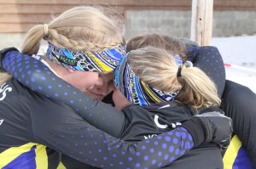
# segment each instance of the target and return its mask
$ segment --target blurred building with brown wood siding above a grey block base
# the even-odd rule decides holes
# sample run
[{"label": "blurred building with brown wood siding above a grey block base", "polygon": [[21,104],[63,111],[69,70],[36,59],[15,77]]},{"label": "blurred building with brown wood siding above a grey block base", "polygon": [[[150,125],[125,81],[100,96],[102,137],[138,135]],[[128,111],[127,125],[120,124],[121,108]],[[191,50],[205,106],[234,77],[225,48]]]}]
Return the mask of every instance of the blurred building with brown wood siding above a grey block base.
[{"label": "blurred building with brown wood siding above a grey block base", "polygon": [[[33,25],[84,4],[104,5],[123,14],[128,39],[148,32],[190,37],[192,0],[0,0],[0,48],[19,48]],[[212,37],[242,34],[256,34],[256,0],[214,0]]]}]

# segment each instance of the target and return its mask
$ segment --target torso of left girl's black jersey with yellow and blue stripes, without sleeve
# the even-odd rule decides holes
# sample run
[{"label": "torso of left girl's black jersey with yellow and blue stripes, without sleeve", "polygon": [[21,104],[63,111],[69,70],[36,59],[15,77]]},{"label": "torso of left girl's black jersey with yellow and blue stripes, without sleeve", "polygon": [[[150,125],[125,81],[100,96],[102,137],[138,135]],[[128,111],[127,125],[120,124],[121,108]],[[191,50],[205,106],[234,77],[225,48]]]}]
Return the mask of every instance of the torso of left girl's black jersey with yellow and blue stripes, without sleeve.
[{"label": "torso of left girl's black jersey with yellow and blue stripes, without sleeve", "polygon": [[[38,144],[44,134],[40,134],[38,123],[31,122],[35,117],[31,113],[35,102],[32,94],[14,79],[4,83],[0,91],[0,168],[57,168],[61,153]],[[40,110],[44,113],[44,108]]]}]

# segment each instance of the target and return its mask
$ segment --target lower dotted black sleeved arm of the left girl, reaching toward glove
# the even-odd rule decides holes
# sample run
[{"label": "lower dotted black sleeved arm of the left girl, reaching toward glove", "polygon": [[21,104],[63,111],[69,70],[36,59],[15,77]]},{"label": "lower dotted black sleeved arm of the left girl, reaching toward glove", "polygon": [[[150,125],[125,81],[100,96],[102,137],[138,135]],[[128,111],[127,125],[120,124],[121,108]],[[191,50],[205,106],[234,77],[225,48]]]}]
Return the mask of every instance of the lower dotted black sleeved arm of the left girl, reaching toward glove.
[{"label": "lower dotted black sleeved arm of the left girl, reaching toward glove", "polygon": [[[36,101],[38,103],[38,100]],[[47,103],[50,109],[45,111],[42,110],[42,104],[36,103],[32,103],[36,142],[97,167],[159,168],[175,161],[198,144],[208,142],[208,138],[213,138],[212,127],[204,126],[208,122],[197,118],[184,124],[186,128],[178,127],[171,132],[140,142],[125,142],[91,127],[67,106],[63,108],[62,104],[56,106],[55,102],[50,102]],[[223,126],[219,127],[223,132]],[[212,132],[209,133],[208,130]],[[193,138],[196,138],[194,142]]]}]

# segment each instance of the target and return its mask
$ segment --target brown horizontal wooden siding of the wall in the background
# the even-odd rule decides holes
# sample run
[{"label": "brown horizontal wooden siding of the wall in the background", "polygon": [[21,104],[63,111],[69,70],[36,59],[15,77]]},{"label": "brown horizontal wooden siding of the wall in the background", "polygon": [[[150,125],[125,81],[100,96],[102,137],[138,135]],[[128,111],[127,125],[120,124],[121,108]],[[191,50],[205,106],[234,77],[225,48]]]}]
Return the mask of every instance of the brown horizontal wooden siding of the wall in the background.
[{"label": "brown horizontal wooden siding of the wall in the background", "polygon": [[[100,4],[127,9],[191,10],[192,0],[0,0],[0,33],[22,33],[74,6]],[[214,0],[214,10],[256,10],[256,0]]]}]

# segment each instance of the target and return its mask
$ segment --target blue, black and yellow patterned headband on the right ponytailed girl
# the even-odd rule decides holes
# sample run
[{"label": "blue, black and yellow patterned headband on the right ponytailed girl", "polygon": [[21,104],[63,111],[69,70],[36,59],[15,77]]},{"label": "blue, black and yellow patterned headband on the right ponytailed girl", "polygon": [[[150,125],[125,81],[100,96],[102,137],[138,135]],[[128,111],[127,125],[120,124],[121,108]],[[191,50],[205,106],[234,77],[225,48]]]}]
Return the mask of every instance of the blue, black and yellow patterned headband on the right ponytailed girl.
[{"label": "blue, black and yellow patterned headband on the right ponytailed girl", "polygon": [[[177,65],[183,65],[183,60],[175,56]],[[133,104],[142,106],[172,101],[178,92],[166,93],[154,87],[148,86],[131,70],[127,62],[127,56],[120,60],[114,72],[114,83],[119,91]]]}]

